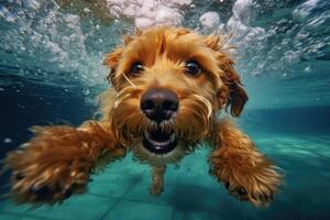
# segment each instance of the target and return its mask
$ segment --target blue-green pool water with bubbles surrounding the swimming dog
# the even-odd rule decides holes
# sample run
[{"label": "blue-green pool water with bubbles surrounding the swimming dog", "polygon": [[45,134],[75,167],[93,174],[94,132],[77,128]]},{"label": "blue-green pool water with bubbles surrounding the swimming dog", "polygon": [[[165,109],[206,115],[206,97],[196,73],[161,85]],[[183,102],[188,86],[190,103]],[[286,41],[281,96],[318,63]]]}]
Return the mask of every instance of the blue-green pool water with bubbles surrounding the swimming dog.
[{"label": "blue-green pool water with bubbles surrounding the swimming dog", "polygon": [[129,154],[62,205],[30,209],[1,197],[0,219],[330,219],[327,0],[0,0],[0,158],[31,125],[95,118],[95,97],[109,87],[105,55],[121,35],[156,24],[232,34],[250,97],[237,121],[285,174],[274,202],[254,208],[229,196],[201,147],[168,166],[158,197],[150,167]]}]

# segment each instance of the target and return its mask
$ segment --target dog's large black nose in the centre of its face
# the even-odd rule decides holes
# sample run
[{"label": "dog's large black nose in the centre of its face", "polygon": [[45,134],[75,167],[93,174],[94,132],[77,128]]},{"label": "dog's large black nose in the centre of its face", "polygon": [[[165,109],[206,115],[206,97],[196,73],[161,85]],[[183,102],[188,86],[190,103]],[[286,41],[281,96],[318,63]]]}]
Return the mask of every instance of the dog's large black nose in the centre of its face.
[{"label": "dog's large black nose in the centre of its face", "polygon": [[147,118],[160,123],[177,111],[178,98],[168,89],[148,89],[141,97],[140,108]]}]

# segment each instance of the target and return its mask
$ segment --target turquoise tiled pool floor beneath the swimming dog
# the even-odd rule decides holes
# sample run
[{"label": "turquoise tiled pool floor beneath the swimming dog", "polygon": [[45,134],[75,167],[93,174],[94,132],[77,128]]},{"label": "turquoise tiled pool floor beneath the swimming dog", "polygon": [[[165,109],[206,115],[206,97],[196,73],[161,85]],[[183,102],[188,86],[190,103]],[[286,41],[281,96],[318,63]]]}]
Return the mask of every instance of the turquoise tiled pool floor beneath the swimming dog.
[{"label": "turquoise tiled pool floor beneath the swimming dog", "polygon": [[275,201],[254,208],[229,196],[208,174],[206,148],[168,166],[165,191],[150,195],[147,165],[132,160],[92,175],[88,191],[53,207],[0,204],[1,220],[330,219],[330,135],[258,134],[253,140],[285,174]]}]

